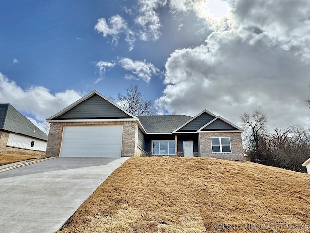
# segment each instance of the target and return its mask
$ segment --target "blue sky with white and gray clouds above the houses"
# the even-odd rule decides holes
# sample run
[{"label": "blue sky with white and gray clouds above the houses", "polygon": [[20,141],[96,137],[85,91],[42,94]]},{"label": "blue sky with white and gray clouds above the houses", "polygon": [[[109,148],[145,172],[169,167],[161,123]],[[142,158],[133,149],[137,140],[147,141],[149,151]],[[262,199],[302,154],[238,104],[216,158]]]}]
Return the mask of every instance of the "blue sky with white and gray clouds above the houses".
[{"label": "blue sky with white and gray clouds above the houses", "polygon": [[157,114],[310,126],[309,0],[0,0],[0,103],[33,123],[138,85]]}]

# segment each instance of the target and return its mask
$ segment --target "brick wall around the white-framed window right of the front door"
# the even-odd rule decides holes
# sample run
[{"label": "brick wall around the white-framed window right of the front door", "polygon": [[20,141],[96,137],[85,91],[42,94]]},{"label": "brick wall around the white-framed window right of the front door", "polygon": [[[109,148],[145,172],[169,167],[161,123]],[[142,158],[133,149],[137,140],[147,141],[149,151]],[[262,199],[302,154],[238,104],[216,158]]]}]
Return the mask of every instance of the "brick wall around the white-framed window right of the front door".
[{"label": "brick wall around the white-framed window right of the front door", "polygon": [[[229,137],[231,141],[231,153],[212,153],[211,137]],[[227,160],[244,160],[241,133],[198,133],[198,145],[200,157],[212,157]]]}]

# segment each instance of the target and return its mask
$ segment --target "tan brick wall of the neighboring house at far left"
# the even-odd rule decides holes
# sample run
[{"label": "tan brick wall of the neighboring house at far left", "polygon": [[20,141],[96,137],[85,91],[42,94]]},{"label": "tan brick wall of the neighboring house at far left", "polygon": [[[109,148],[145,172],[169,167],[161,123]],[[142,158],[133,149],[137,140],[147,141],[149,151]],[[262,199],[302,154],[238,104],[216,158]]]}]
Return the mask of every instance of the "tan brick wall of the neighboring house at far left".
[{"label": "tan brick wall of the neighboring house at far left", "polygon": [[9,135],[10,135],[9,132],[0,131],[0,152],[8,154],[31,154],[37,156],[45,155],[45,152],[43,151],[7,146]]}]

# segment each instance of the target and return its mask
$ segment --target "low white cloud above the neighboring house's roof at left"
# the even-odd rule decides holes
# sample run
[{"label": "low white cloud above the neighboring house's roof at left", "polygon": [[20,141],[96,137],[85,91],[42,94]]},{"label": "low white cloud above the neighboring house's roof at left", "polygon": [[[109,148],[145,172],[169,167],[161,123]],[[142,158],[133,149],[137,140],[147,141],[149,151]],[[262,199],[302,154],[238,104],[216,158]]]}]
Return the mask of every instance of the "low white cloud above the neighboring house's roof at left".
[{"label": "low white cloud above the neighboring house's roof at left", "polygon": [[0,73],[1,102],[10,103],[17,110],[35,116],[36,121],[46,120],[80,98],[81,94],[74,90],[54,94],[43,86],[31,86],[24,90]]}]

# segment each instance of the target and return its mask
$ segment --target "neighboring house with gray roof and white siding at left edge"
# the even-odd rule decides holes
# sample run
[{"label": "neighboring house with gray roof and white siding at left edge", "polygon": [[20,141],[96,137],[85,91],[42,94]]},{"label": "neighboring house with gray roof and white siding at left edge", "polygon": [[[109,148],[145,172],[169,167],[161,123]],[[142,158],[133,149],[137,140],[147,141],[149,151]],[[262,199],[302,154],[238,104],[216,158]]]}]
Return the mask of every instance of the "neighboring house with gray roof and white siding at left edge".
[{"label": "neighboring house with gray roof and white siding at left edge", "polygon": [[47,134],[11,104],[0,104],[0,153],[44,156]]}]

